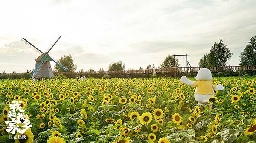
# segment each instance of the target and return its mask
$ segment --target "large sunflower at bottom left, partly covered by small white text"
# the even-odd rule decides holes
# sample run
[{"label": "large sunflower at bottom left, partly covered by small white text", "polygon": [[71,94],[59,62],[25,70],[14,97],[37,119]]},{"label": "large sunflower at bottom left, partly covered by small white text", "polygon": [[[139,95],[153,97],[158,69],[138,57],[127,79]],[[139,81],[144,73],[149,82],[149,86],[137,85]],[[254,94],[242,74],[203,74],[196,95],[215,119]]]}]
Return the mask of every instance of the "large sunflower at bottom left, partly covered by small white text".
[{"label": "large sunflower at bottom left, partly covered by small white text", "polygon": [[31,131],[31,128],[27,129],[26,132],[24,132],[23,134],[20,134],[19,132],[17,132],[16,136],[18,137],[20,135],[25,137],[22,139],[16,138],[14,143],[33,143],[34,135],[33,135],[33,132]]}]

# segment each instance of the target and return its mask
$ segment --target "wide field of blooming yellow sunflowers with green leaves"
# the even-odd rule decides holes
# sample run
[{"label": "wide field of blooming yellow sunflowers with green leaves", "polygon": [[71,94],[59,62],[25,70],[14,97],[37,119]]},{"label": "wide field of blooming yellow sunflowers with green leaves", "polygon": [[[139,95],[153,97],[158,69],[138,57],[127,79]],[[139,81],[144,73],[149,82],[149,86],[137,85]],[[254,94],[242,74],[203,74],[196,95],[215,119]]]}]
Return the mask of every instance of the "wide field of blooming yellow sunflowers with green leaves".
[{"label": "wide field of blooming yellow sunflowers with green leaves", "polygon": [[[256,79],[222,78],[210,106],[177,79],[0,80],[0,142],[255,143]],[[9,139],[9,104],[32,123]],[[19,133],[17,133],[19,135]]]}]

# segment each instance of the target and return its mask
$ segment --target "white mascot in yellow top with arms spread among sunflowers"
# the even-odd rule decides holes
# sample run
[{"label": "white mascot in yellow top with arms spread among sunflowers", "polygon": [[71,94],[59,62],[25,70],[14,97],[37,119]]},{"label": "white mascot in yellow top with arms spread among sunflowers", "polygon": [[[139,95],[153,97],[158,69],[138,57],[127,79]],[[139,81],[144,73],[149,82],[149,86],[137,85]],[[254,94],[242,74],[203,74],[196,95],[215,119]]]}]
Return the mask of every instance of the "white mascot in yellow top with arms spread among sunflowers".
[{"label": "white mascot in yellow top with arms spread among sunflowers", "polygon": [[200,69],[195,79],[197,81],[191,81],[186,76],[182,76],[180,81],[189,86],[196,87],[194,98],[196,101],[198,101],[198,105],[207,105],[208,98],[214,96],[214,90],[224,89],[221,84],[219,84],[218,86],[214,86],[212,84],[212,73],[207,68]]}]

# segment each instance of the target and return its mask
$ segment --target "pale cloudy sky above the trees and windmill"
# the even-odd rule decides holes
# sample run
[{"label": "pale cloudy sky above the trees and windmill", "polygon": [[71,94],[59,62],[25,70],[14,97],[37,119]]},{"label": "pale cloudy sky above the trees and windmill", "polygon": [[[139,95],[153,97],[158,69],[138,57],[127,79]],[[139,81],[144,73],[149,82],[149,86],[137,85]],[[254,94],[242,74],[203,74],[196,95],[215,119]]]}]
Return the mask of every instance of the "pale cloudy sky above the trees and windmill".
[{"label": "pale cloudy sky above the trees and windmill", "polygon": [[[0,72],[35,68],[40,56],[22,37],[56,59],[72,55],[77,70],[160,67],[166,56],[189,54],[192,67],[223,39],[239,65],[256,36],[256,0],[4,0],[0,2]],[[186,57],[178,57],[186,67]],[[54,62],[51,62],[52,68]]]}]

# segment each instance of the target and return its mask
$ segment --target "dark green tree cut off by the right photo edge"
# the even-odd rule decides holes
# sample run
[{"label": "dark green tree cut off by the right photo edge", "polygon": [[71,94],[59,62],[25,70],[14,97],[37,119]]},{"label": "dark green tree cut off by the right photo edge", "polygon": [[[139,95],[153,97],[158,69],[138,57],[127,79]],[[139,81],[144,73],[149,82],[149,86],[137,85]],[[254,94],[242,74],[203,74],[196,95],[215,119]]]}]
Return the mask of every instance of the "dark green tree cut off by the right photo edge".
[{"label": "dark green tree cut off by the right photo edge", "polygon": [[250,39],[250,42],[240,54],[240,65],[256,65],[256,36]]}]

